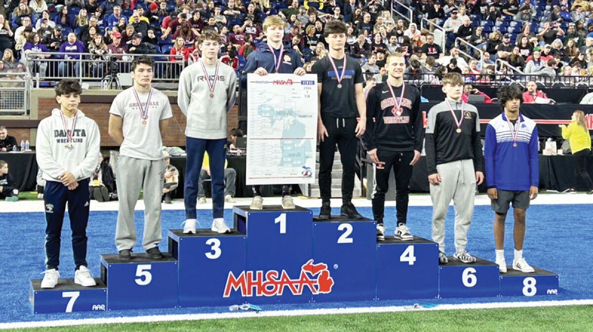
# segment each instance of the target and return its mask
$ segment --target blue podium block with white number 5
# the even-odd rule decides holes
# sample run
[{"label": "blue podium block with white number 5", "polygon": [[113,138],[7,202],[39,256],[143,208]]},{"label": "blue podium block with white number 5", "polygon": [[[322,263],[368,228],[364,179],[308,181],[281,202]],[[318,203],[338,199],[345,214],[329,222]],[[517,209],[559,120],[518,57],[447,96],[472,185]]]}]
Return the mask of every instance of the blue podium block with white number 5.
[{"label": "blue podium block with white number 5", "polygon": [[132,254],[119,260],[117,254],[101,255],[101,279],[107,285],[107,309],[177,307],[177,260],[171,254],[153,260]]}]

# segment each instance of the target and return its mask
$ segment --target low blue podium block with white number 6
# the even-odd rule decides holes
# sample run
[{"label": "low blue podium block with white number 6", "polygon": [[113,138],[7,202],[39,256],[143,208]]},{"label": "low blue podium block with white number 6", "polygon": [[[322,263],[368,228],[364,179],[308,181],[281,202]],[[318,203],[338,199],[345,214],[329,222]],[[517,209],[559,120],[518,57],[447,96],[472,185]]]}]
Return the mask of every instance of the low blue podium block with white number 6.
[{"label": "low blue podium block with white number 6", "polygon": [[[500,292],[498,265],[477,258],[476,263],[465,264],[447,257],[448,264],[439,265],[439,297],[477,298],[498,296]],[[438,261],[438,255],[435,256]]]}]

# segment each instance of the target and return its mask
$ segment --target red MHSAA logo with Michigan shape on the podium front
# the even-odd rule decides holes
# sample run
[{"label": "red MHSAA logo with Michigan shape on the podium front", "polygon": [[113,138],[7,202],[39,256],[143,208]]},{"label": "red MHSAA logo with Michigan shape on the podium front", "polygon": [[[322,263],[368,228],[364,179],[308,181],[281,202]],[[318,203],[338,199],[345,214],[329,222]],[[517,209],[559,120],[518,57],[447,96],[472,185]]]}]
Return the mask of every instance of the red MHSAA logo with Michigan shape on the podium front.
[{"label": "red MHSAA logo with Michigan shape on the podium front", "polygon": [[269,270],[265,277],[263,271],[243,271],[237,277],[229,272],[222,296],[228,298],[231,290],[240,291],[241,296],[280,296],[285,288],[292,295],[301,295],[305,287],[313,294],[326,294],[331,292],[333,285],[327,264],[313,264],[313,260],[309,260],[301,266],[297,279],[291,279],[285,270]]}]

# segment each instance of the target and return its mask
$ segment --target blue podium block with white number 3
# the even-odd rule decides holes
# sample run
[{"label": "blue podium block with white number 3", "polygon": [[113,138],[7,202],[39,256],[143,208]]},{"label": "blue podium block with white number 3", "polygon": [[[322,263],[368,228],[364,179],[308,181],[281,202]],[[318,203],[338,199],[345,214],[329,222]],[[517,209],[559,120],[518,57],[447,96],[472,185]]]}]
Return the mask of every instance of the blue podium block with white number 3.
[{"label": "blue podium block with white number 3", "polygon": [[219,234],[210,229],[168,232],[169,253],[178,260],[179,307],[233,305],[245,302],[241,293],[231,292],[231,280],[246,270],[245,234],[232,230]]}]

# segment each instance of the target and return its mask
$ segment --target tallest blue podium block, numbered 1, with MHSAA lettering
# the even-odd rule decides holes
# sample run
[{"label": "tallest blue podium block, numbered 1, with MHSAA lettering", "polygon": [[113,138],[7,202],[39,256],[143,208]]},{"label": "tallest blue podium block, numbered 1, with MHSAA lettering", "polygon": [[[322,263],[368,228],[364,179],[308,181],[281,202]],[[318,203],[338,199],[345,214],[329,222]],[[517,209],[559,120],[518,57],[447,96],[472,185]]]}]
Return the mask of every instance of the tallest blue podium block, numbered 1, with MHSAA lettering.
[{"label": "tallest blue podium block, numbered 1, with MHSAA lettering", "polygon": [[315,281],[307,269],[317,269],[313,212],[279,205],[235,206],[233,212],[236,229],[248,235],[246,271],[229,275],[231,294],[238,292],[253,304],[311,302]]}]

